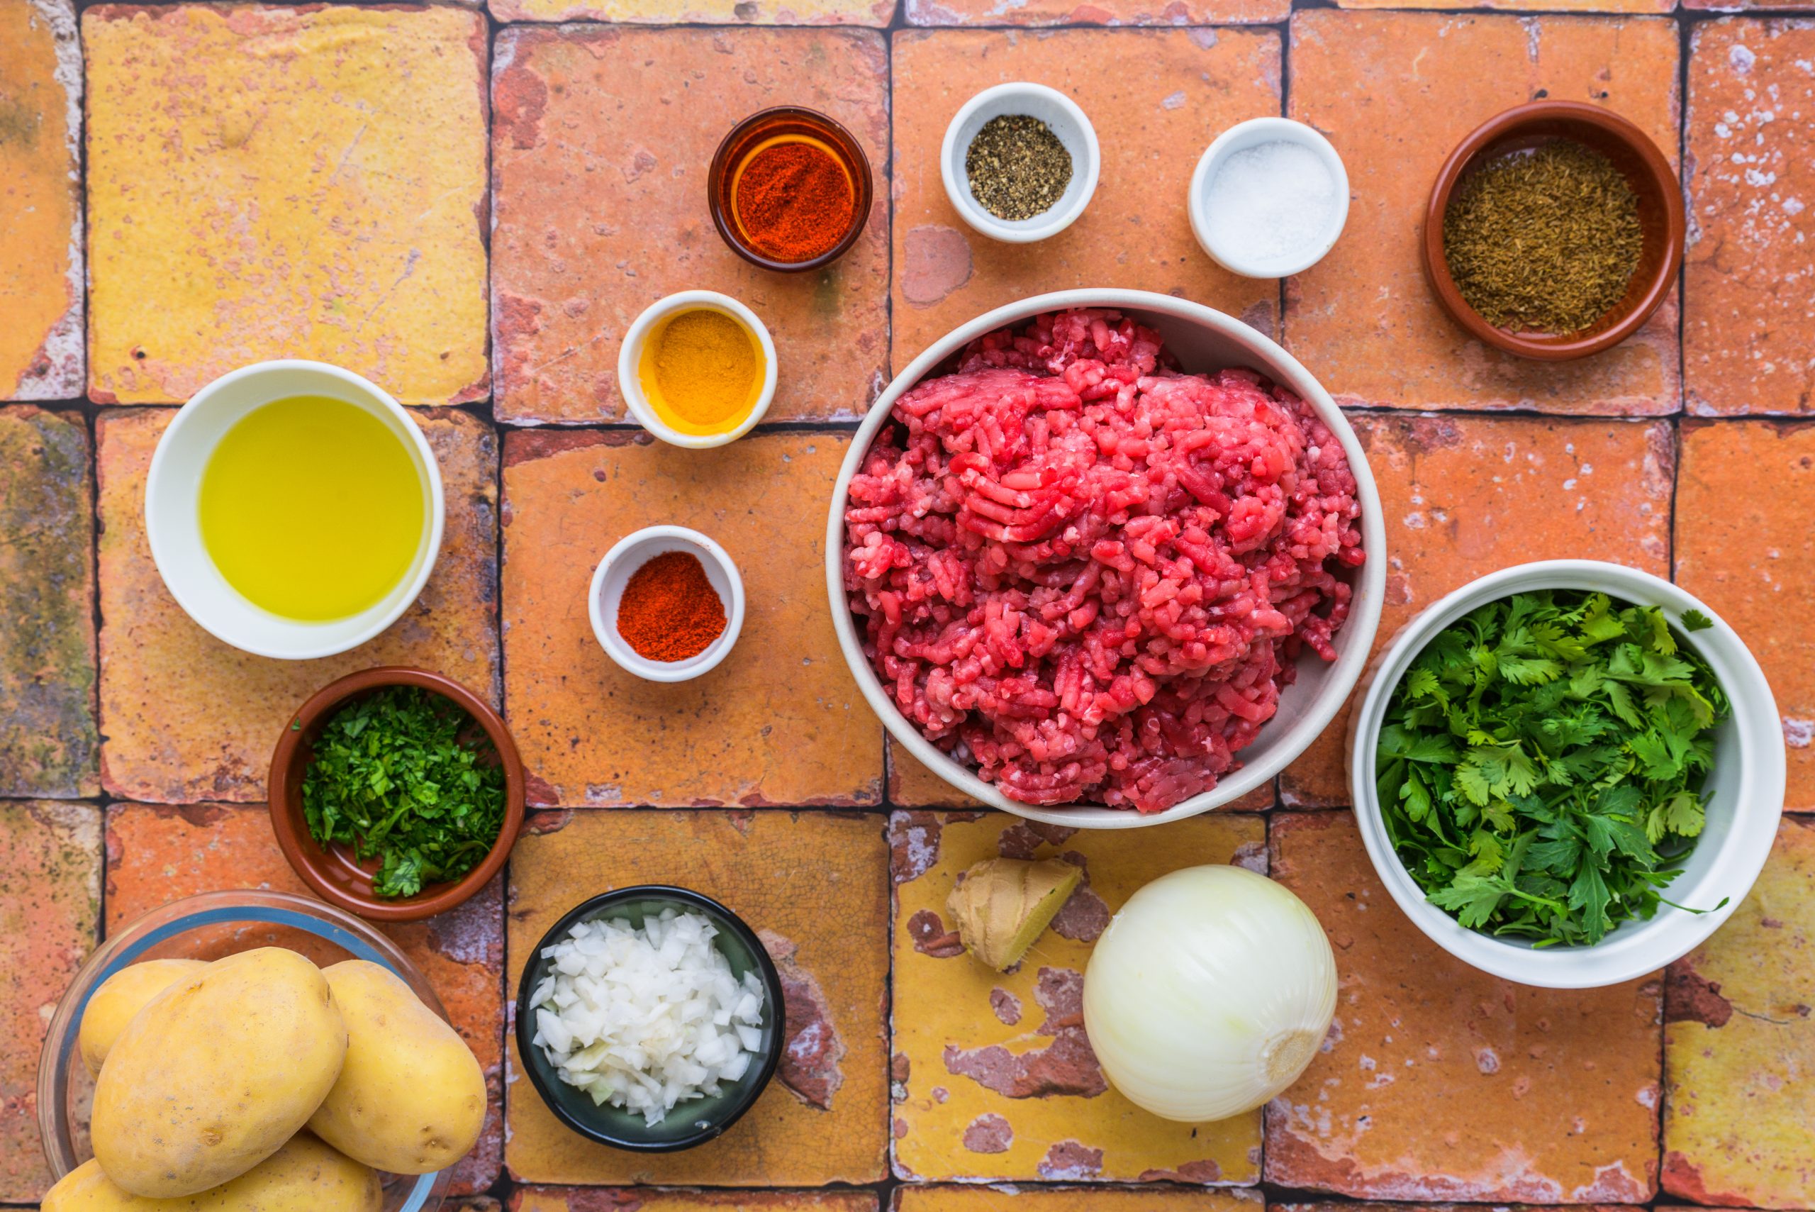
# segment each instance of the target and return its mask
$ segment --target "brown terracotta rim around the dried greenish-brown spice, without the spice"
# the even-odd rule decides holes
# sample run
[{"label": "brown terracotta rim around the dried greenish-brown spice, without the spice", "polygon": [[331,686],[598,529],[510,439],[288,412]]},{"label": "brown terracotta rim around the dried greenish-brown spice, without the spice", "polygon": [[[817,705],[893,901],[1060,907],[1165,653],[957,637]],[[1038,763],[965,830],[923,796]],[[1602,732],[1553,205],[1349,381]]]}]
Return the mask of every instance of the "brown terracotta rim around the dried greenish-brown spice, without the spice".
[{"label": "brown terracotta rim around the dried greenish-brown spice, without the spice", "polygon": [[[1664,198],[1666,249],[1657,272],[1652,274],[1644,292],[1626,316],[1619,319],[1619,323],[1608,327],[1604,332],[1574,341],[1555,337],[1532,339],[1505,328],[1496,328],[1463,301],[1461,288],[1450,276],[1448,261],[1443,258],[1443,216],[1450,207],[1450,196],[1454,194],[1457,181],[1461,181],[1463,171],[1468,163],[1490,143],[1517,134],[1519,127],[1557,120],[1581,122],[1597,127],[1624,143],[1641,160],[1641,163],[1644,163],[1648,176]],[[1514,105],[1512,109],[1494,114],[1456,145],[1456,149],[1443,161],[1443,167],[1437,169],[1436,180],[1430,183],[1430,198],[1425,201],[1425,229],[1419,239],[1419,252],[1423,254],[1425,278],[1430,283],[1432,294],[1437,296],[1437,303],[1443,310],[1457,325],[1461,325],[1468,336],[1477,341],[1486,341],[1488,345],[1506,350],[1508,354],[1519,354],[1521,357],[1532,357],[1537,361],[1570,361],[1610,350],[1650,321],[1677,285],[1677,276],[1683,269],[1684,232],[1686,218],[1683,209],[1681,178],[1677,176],[1677,171],[1670,167],[1670,160],[1664,152],[1652,142],[1652,136],[1641,131],[1630,118],[1617,114],[1612,109],[1603,109],[1601,105],[1590,105],[1586,102],[1543,100],[1525,102],[1523,105]]]}]

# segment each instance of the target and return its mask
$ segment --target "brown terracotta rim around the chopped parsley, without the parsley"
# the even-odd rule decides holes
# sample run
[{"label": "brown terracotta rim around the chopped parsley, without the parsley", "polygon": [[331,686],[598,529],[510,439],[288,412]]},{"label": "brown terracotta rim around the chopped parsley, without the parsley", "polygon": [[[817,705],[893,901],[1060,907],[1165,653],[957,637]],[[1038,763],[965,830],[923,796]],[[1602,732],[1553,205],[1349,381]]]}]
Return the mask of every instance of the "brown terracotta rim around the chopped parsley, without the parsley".
[{"label": "brown terracotta rim around the chopped parsley, without the parsley", "polygon": [[[416,896],[394,900],[379,900],[374,894],[368,900],[361,900],[323,878],[314,858],[319,845],[309,836],[309,827],[301,820],[303,784],[299,777],[296,780],[290,778],[290,766],[299,760],[298,751],[301,749],[303,735],[316,722],[350,697],[387,686],[417,686],[441,695],[463,708],[485,729],[505,769],[505,824],[479,865],[459,880],[443,884],[439,891],[430,893],[425,889]],[[290,864],[290,869],[301,876],[303,884],[316,896],[370,922],[419,922],[465,904],[490,884],[492,876],[503,871],[505,860],[510,858],[510,851],[517,844],[517,835],[523,831],[526,778],[517,742],[492,704],[446,675],[414,666],[378,666],[329,682],[290,713],[270,753],[270,773],[265,787],[267,811],[270,813],[270,827],[278,835],[278,847],[283,851],[283,858]]]}]

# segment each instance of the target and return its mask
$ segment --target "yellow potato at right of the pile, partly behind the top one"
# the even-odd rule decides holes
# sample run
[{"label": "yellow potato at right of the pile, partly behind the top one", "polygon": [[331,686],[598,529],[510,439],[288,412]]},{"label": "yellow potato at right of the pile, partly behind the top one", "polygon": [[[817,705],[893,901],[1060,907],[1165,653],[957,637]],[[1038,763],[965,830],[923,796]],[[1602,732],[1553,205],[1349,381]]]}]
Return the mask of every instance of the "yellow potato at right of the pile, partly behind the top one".
[{"label": "yellow potato at right of the pile, partly behind the top one", "polygon": [[347,1021],[347,1065],[309,1130],[379,1170],[428,1174],[472,1148],[485,1072],[466,1043],[378,963],[323,969]]}]

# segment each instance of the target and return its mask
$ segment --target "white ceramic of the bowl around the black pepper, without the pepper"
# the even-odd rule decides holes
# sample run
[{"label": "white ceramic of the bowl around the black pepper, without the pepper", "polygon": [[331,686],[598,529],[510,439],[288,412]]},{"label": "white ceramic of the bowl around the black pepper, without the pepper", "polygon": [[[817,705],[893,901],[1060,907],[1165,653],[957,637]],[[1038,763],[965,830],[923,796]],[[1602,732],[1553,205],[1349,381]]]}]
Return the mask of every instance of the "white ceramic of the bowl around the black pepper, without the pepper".
[{"label": "white ceramic of the bowl around the black pepper, without the pepper", "polygon": [[[1002,114],[1027,114],[1038,118],[1058,136],[1058,142],[1071,152],[1071,183],[1065,192],[1031,220],[998,220],[984,210],[971,194],[971,178],[964,171],[964,154],[971,151],[971,140],[984,129],[984,123]],[[1033,243],[1045,239],[1071,227],[1084,214],[1096,192],[1096,174],[1102,171],[1102,152],[1096,147],[1096,131],[1084,116],[1078,103],[1058,89],[1044,83],[998,83],[984,89],[953,116],[946,127],[946,143],[938,151],[938,174],[946,181],[946,198],[951,207],[991,239],[1004,243]]]}]

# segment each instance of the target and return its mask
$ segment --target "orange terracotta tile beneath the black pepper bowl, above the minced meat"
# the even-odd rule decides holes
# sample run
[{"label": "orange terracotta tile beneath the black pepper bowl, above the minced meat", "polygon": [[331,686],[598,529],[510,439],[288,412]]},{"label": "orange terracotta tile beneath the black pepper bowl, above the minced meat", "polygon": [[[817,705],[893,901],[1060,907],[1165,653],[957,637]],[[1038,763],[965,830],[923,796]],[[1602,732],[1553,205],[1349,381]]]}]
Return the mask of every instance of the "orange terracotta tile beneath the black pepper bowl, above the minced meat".
[{"label": "orange terracotta tile beneath the black pepper bowl, above the minced meat", "polygon": [[[1229,274],[1191,236],[1185,187],[1212,138],[1280,112],[1270,29],[906,29],[895,34],[895,365],[993,307],[1071,287],[1191,298],[1274,332],[1278,287]],[[1102,176],[1069,229],[1033,245],[973,232],[938,176],[946,125],[1009,80],[1084,100]]]}]

